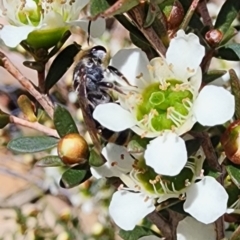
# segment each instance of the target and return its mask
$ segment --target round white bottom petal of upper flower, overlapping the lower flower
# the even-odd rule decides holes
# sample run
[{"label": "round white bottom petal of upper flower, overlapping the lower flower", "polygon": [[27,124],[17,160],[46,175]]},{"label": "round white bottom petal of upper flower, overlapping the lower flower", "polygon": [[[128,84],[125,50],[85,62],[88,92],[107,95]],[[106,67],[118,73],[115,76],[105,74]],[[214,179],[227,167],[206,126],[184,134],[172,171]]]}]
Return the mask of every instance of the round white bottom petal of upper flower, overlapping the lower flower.
[{"label": "round white bottom petal of upper flower, overlapping the lower flower", "polygon": [[156,173],[175,176],[187,162],[185,142],[175,133],[164,133],[148,144],[144,157]]}]

